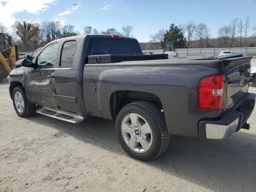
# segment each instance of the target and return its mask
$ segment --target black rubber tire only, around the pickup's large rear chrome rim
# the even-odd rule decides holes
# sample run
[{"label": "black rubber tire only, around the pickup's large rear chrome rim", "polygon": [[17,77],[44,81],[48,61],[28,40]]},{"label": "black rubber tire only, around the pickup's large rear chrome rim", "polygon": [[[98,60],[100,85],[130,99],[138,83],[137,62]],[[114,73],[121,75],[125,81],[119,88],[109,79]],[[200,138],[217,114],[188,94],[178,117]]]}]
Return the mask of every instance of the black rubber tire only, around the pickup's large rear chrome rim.
[{"label": "black rubber tire only, around the pickup's large rear chrome rim", "polygon": [[[150,149],[144,153],[131,150],[122,137],[121,125],[126,115],[136,113],[142,116],[150,125],[153,141]],[[164,116],[159,108],[149,102],[134,102],[124,106],[116,118],[116,133],[120,145],[133,158],[146,161],[160,156],[168,147],[170,135],[166,127]]]}]

